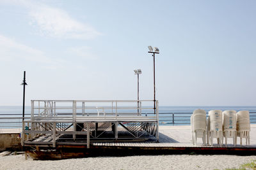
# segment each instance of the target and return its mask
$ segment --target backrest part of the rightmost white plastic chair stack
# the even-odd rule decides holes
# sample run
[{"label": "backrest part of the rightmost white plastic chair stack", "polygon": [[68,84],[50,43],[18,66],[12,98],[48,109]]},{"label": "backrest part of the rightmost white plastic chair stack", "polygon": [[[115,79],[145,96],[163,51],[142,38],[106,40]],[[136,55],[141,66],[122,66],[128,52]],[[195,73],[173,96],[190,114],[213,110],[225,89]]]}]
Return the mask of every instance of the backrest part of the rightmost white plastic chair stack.
[{"label": "backrest part of the rightmost white plastic chair stack", "polygon": [[236,114],[237,131],[250,131],[250,114],[249,111],[238,111]]}]

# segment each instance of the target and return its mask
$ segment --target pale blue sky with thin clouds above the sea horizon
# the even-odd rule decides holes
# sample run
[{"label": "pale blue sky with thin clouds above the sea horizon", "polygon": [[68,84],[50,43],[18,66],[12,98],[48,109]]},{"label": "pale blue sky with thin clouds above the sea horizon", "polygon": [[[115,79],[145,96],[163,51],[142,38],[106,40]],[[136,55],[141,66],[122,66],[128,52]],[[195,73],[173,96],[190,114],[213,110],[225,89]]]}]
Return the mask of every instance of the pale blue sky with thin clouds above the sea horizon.
[{"label": "pale blue sky with thin clouds above the sea horizon", "polygon": [[0,106],[32,99],[256,105],[256,1],[0,0]]}]

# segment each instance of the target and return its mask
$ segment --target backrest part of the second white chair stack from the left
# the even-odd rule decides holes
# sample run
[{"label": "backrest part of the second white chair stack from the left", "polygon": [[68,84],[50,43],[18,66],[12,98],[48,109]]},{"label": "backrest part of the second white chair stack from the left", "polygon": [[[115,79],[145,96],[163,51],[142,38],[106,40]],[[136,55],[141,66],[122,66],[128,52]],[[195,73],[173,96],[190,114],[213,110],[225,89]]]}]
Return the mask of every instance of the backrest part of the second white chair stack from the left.
[{"label": "backrest part of the second white chair stack from the left", "polygon": [[223,131],[222,127],[222,111],[209,111],[209,131]]}]

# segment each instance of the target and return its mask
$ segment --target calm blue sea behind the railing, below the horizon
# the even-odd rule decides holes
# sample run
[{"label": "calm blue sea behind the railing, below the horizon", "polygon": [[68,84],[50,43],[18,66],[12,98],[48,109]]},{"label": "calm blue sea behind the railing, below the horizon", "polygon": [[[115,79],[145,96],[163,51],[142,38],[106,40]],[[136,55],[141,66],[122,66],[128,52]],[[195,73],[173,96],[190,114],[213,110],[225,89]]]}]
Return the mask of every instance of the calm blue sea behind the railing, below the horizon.
[{"label": "calm blue sea behind the railing, below the horizon", "polygon": [[[159,124],[161,125],[189,125],[190,116],[196,109],[210,110],[248,110],[250,112],[250,122],[256,122],[256,106],[159,106]],[[125,112],[125,111],[124,111]],[[131,112],[131,111],[130,111]],[[153,111],[147,111],[147,115],[153,114]],[[174,113],[174,115],[172,114]],[[12,115],[4,115],[12,114]],[[19,114],[19,115],[15,115]],[[31,107],[25,108],[25,117],[30,117]],[[143,113],[145,114],[145,113]],[[173,117],[174,116],[174,117]],[[22,106],[0,106],[0,129],[17,128],[21,126],[22,119],[3,119],[3,117],[22,117]],[[174,118],[174,121],[173,121]],[[13,123],[6,123],[13,122]],[[174,124],[173,124],[174,122]]]}]

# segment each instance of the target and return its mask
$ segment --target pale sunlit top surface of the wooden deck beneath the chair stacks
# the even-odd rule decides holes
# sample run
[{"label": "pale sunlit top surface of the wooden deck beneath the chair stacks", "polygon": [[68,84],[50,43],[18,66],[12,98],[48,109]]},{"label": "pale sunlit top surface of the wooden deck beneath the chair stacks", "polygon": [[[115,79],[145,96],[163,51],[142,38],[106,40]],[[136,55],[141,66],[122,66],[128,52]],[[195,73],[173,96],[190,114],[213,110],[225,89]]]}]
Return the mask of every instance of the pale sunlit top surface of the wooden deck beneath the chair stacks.
[{"label": "pale sunlit top surface of the wooden deck beneath the chair stacks", "polygon": [[[250,131],[250,145],[245,145],[245,139],[243,139],[243,145],[240,146],[240,139],[237,138],[237,148],[256,148],[256,125],[251,125]],[[156,141],[145,141],[145,142],[106,142],[106,143],[92,143],[92,146],[134,146],[134,147],[220,147],[217,145],[217,140],[214,139],[213,146],[204,146],[202,139],[198,138],[196,146],[192,144],[191,139],[191,127],[188,126],[159,126],[159,143]],[[225,141],[222,147],[225,146]],[[228,138],[227,147],[234,148],[232,138]]]}]

